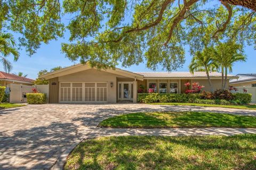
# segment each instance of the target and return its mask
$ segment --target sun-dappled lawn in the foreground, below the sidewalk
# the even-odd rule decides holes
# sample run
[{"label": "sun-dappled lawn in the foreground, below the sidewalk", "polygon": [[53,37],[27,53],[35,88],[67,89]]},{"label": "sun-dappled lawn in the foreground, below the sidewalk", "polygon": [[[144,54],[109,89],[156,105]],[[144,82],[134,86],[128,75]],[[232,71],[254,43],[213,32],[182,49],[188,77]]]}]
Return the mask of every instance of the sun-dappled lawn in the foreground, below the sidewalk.
[{"label": "sun-dappled lawn in the foreground, below the sidewalk", "polygon": [[256,135],[105,137],[81,142],[64,169],[256,169]]}]

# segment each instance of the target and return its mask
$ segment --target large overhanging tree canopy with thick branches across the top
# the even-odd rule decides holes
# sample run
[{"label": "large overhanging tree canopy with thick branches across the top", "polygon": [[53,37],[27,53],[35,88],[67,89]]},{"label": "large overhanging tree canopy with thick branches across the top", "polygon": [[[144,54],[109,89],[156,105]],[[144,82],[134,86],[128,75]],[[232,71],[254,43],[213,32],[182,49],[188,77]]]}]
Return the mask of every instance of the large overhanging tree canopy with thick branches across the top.
[{"label": "large overhanging tree canopy with thick branches across the top", "polygon": [[0,7],[0,30],[21,33],[30,55],[67,30],[62,52],[97,67],[146,60],[173,70],[185,62],[185,46],[194,55],[230,39],[256,44],[256,0],[2,0]]}]

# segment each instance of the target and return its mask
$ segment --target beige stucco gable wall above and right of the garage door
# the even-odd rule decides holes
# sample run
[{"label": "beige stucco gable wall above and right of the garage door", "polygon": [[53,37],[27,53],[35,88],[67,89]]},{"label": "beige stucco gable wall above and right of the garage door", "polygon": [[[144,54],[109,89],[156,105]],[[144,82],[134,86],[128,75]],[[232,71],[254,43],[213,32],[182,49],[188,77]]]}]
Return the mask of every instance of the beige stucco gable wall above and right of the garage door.
[{"label": "beige stucco gable wall above and right of the garage door", "polygon": [[[59,82],[107,82],[107,102],[116,103],[116,89],[117,89],[117,75],[100,71],[96,69],[89,69],[69,75],[59,77]],[[114,86],[111,88],[110,82]]]}]

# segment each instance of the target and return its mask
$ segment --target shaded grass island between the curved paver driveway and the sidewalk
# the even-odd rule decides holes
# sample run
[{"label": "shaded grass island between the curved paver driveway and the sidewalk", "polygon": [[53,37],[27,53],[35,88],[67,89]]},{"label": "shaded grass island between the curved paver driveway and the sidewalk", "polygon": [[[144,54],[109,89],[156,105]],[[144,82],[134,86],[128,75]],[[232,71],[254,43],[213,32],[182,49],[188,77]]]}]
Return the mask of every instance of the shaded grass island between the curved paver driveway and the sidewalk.
[{"label": "shaded grass island between the curved paver driveway and the sidewalk", "polygon": [[256,117],[209,112],[147,112],[103,120],[107,128],[256,128]]}]

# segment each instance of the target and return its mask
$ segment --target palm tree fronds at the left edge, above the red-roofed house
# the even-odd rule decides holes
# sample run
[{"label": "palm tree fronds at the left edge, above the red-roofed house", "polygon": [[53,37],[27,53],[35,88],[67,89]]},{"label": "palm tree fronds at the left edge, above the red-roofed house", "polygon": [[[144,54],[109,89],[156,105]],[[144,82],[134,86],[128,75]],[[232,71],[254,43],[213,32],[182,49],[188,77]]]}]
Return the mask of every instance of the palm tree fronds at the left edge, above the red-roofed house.
[{"label": "palm tree fronds at the left edge, above the red-roofed house", "polygon": [[14,61],[19,58],[19,52],[14,48],[15,41],[10,33],[0,33],[0,61],[4,66],[5,72],[10,72],[12,70],[12,64],[7,60],[7,56],[13,55]]}]

